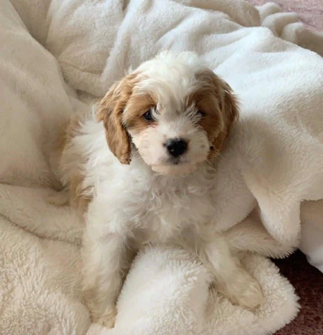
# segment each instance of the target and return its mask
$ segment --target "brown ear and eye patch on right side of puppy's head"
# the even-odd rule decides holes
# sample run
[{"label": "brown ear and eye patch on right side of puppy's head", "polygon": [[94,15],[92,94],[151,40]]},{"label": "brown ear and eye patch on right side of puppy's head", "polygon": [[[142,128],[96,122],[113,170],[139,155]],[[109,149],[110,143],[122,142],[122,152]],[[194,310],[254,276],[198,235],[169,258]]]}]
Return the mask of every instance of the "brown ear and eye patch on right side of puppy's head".
[{"label": "brown ear and eye patch on right side of puppy's head", "polygon": [[200,126],[212,143],[209,158],[219,153],[230,128],[238,116],[237,99],[230,86],[212,70],[196,74],[198,89],[188,97],[188,105],[194,103],[203,113]]}]

